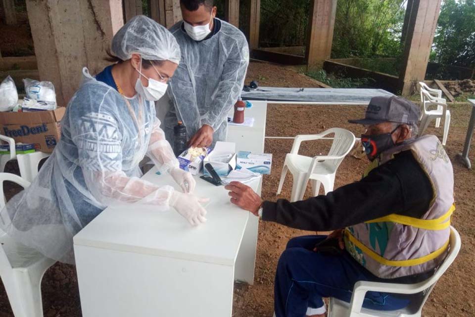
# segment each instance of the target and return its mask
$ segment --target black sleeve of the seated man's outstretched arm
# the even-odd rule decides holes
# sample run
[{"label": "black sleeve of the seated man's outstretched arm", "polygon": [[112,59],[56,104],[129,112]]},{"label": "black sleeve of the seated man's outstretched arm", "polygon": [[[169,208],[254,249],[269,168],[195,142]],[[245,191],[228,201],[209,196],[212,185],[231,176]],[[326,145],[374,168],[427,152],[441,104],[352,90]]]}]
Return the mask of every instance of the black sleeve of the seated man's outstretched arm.
[{"label": "black sleeve of the seated man's outstretched arm", "polygon": [[411,151],[373,169],[362,180],[328,195],[290,203],[264,202],[262,219],[302,230],[327,231],[397,213],[421,217],[427,212],[433,189]]}]

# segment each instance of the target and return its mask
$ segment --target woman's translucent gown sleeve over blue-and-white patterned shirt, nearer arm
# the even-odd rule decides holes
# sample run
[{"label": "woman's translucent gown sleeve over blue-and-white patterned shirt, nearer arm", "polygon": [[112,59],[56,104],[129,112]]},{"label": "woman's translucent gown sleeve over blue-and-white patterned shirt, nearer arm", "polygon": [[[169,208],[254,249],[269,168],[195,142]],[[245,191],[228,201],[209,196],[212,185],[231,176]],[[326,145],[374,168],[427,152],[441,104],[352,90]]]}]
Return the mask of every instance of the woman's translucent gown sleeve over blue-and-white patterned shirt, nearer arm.
[{"label": "woman's translucent gown sleeve over blue-and-white patterned shirt, nearer arm", "polygon": [[73,141],[86,186],[103,206],[137,203],[166,209],[171,186],[156,186],[122,170],[122,134],[117,120],[107,113],[91,112],[79,120]]}]

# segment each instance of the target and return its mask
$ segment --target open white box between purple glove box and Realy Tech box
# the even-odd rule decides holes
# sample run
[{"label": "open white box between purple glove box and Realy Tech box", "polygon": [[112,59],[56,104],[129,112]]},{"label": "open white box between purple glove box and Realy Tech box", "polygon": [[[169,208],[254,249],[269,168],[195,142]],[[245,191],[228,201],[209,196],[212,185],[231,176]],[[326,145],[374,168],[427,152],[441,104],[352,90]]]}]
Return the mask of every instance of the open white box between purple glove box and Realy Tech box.
[{"label": "open white box between purple glove box and Realy Tech box", "polygon": [[[228,176],[229,172],[236,169],[236,143],[216,142],[216,146],[203,160],[203,165],[210,163],[219,176]],[[203,174],[211,174],[203,168]]]}]

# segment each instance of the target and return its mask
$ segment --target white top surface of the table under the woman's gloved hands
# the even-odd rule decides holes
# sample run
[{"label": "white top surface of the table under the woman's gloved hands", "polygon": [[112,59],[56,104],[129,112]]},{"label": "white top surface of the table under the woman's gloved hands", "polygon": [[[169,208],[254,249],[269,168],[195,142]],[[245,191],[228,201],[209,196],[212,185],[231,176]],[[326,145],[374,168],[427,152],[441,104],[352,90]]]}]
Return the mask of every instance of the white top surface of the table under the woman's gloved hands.
[{"label": "white top surface of the table under the woman's gloved hands", "polygon": [[[169,175],[152,168],[144,179],[158,185],[175,185]],[[256,189],[260,180],[249,186]],[[249,212],[230,203],[224,186],[196,176],[195,194],[211,199],[207,222],[192,227],[175,209],[153,206],[109,207],[74,237],[75,245],[157,255],[214,264],[234,265]]]}]

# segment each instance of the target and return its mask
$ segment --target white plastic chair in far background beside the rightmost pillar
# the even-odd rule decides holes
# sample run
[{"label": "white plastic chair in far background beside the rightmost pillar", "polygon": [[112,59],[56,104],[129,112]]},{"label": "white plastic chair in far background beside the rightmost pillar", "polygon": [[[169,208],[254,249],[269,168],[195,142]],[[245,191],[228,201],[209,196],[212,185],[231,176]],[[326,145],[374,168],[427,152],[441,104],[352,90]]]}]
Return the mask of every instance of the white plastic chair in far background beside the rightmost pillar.
[{"label": "white plastic chair in far background beside the rightmost pillar", "polygon": [[[424,113],[422,115],[421,124],[419,126],[419,135],[422,135],[424,131],[433,119],[445,118],[444,120],[444,134],[442,138],[442,145],[445,146],[447,142],[447,136],[450,128],[450,110],[447,109],[447,103],[443,98],[436,98],[431,96],[424,88],[421,87],[421,95],[424,96]],[[429,110],[428,106],[437,106],[436,110]],[[440,110],[439,110],[440,109]]]}]

